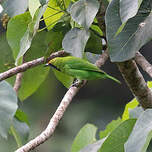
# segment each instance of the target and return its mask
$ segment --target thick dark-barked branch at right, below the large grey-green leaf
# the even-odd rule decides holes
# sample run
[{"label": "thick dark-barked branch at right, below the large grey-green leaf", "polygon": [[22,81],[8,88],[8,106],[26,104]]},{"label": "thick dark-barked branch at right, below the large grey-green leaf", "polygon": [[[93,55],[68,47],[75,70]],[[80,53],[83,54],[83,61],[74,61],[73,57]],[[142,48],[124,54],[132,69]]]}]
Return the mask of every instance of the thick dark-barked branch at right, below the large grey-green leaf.
[{"label": "thick dark-barked branch at right, below the large grey-green leaf", "polygon": [[117,63],[119,70],[124,77],[130,90],[144,108],[152,107],[152,91],[147,87],[147,84],[140,73],[134,60],[129,60]]}]

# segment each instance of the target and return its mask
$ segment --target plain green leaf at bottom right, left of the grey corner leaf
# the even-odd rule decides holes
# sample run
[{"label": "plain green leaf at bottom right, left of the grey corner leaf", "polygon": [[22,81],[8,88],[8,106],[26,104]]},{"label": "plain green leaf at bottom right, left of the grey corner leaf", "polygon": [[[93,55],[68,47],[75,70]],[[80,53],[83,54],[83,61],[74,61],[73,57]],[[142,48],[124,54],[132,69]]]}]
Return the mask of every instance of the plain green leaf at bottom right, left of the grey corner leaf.
[{"label": "plain green leaf at bottom right, left of the grey corner leaf", "polygon": [[124,152],[124,143],[127,141],[135,122],[135,119],[122,122],[106,138],[99,152]]}]

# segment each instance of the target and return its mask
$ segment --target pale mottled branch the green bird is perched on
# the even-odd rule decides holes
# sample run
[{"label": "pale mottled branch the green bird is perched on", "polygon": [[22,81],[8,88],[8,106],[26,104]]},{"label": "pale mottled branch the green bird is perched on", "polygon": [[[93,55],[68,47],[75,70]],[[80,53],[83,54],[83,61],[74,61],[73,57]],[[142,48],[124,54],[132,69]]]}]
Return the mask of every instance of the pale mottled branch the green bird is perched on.
[{"label": "pale mottled branch the green bird is perched on", "polygon": [[[98,67],[102,66],[106,60],[107,60],[107,51],[105,51],[101,57],[100,61],[96,62],[96,65]],[[101,61],[102,60],[102,61]],[[99,64],[100,63],[100,64]],[[36,138],[33,140],[29,141],[26,145],[22,146],[16,152],[28,152],[40,144],[44,143],[48,138],[52,136],[54,133],[56,126],[58,125],[60,119],[63,117],[64,112],[66,111],[67,107],[71,103],[73,97],[77,94],[79,89],[85,85],[86,81],[84,81],[83,84],[80,84],[80,87],[70,87],[70,89],[67,91],[67,93],[64,95],[59,107],[57,108],[56,112],[54,113],[53,117],[51,118],[47,128]]]}]

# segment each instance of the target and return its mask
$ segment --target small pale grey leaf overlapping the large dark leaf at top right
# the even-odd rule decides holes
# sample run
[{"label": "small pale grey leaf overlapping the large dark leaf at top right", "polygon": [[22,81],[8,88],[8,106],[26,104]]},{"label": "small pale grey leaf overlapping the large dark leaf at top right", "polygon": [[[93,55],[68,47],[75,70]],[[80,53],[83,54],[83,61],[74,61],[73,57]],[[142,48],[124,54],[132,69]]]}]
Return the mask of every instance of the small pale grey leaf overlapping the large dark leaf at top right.
[{"label": "small pale grey leaf overlapping the large dark leaf at top right", "polygon": [[143,0],[120,0],[120,17],[122,23],[128,21],[128,19],[134,17]]}]

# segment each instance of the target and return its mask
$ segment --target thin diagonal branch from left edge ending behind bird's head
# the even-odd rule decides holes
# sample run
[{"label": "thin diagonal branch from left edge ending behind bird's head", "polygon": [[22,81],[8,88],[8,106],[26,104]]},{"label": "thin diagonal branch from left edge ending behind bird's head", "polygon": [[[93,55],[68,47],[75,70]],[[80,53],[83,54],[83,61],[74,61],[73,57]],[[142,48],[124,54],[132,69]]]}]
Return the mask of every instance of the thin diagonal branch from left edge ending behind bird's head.
[{"label": "thin diagonal branch from left edge ending behind bird's head", "polygon": [[64,51],[58,51],[58,52],[52,53],[50,55],[50,57],[48,57],[47,59],[45,59],[44,57],[41,57],[41,58],[38,58],[38,59],[35,59],[35,60],[32,60],[32,61],[23,63],[20,66],[12,68],[12,69],[10,69],[6,72],[0,73],[0,81],[5,80],[9,77],[12,77],[12,76],[16,75],[17,73],[24,72],[27,69],[36,67],[37,65],[44,64],[45,62],[48,62],[49,60],[51,60],[55,57],[64,56],[65,54],[66,53]]}]

